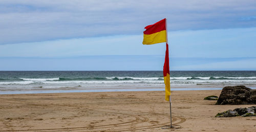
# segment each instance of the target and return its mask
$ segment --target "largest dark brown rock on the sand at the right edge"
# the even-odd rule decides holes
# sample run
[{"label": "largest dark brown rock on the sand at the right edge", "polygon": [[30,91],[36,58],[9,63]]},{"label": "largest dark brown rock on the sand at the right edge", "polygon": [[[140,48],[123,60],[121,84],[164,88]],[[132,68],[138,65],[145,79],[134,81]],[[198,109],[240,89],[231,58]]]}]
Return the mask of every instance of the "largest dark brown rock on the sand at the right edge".
[{"label": "largest dark brown rock on the sand at the right edge", "polygon": [[256,90],[244,85],[225,86],[216,104],[256,104]]}]

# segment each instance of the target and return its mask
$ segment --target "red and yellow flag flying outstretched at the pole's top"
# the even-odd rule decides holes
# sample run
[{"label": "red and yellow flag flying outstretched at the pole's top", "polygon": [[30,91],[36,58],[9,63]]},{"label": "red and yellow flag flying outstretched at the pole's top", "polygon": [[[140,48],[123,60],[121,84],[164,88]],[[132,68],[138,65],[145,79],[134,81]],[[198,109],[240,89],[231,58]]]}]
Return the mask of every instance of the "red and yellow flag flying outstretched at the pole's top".
[{"label": "red and yellow flag flying outstretched at the pole's top", "polygon": [[166,18],[153,25],[148,25],[143,32],[143,45],[166,42]]}]

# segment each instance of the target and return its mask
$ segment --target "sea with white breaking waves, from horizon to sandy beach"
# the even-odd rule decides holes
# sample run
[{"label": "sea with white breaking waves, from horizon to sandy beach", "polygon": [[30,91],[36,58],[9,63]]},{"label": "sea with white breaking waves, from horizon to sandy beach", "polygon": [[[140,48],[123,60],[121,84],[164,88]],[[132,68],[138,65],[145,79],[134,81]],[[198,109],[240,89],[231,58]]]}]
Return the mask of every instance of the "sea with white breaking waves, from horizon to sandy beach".
[{"label": "sea with white breaking waves, from horizon to sandy beach", "polygon": [[[256,71],[170,71],[171,90],[256,89]],[[0,71],[0,94],[164,91],[162,71]]]}]

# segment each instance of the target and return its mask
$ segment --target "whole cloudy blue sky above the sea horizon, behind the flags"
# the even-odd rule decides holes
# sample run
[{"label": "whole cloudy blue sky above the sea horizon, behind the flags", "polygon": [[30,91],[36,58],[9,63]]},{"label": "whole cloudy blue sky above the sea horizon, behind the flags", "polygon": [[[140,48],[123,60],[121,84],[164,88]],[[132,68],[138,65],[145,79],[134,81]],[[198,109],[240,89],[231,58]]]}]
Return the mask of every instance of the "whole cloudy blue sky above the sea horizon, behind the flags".
[{"label": "whole cloudy blue sky above the sea horizon, behind the flags", "polygon": [[256,70],[256,1],[0,1],[0,71]]}]

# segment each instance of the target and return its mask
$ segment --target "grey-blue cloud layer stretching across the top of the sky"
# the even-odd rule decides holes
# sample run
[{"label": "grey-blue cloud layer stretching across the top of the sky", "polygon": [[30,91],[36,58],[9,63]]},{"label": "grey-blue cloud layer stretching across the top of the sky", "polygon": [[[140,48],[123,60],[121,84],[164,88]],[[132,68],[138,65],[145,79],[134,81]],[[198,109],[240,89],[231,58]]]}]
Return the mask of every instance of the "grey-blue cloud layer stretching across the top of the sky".
[{"label": "grey-blue cloud layer stretching across the top of the sky", "polygon": [[0,44],[132,35],[164,17],[168,30],[255,27],[255,1],[1,1]]}]

